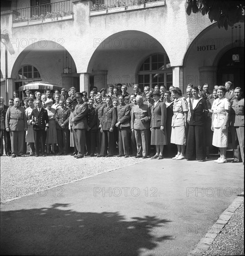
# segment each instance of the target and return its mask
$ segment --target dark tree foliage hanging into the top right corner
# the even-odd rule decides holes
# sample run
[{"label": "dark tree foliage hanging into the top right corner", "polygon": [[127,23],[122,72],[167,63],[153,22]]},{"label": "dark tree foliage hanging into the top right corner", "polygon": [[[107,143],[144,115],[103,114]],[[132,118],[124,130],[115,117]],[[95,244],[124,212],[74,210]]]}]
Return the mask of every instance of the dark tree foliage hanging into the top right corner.
[{"label": "dark tree foliage hanging into the top right corner", "polygon": [[189,0],[187,14],[202,13],[213,21],[218,22],[218,27],[233,27],[237,22],[244,22],[245,1],[240,0]]}]

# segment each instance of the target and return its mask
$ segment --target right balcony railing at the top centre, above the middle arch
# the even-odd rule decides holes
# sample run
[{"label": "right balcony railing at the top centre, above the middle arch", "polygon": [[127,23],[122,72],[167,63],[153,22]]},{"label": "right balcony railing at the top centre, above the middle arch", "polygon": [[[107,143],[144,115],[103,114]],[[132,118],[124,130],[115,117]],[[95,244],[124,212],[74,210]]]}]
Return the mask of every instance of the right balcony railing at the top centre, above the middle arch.
[{"label": "right balcony railing at the top centre, above the middle arch", "polygon": [[165,0],[94,0],[90,12],[112,13],[164,5]]}]

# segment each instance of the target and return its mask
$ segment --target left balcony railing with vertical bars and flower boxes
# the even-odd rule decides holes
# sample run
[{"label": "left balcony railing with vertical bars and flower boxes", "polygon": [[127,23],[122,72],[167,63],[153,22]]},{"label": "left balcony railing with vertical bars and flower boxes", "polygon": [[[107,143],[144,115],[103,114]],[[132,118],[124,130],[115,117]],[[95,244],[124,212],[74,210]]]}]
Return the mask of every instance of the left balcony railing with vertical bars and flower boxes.
[{"label": "left balcony railing with vertical bars and flower boxes", "polygon": [[58,20],[58,18],[73,15],[72,7],[72,1],[66,0],[16,9],[19,15],[15,20],[13,20],[13,23],[46,19]]}]

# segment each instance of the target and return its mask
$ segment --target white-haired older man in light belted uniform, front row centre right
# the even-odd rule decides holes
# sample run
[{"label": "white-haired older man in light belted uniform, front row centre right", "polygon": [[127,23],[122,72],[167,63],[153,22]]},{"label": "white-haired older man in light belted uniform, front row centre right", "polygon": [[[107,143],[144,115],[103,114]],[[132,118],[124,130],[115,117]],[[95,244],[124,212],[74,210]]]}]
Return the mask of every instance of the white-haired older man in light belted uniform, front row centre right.
[{"label": "white-haired older man in light belted uniform, front row centre right", "polygon": [[143,104],[141,95],[136,96],[137,105],[131,110],[131,130],[135,132],[135,140],[137,143],[137,155],[135,158],[147,158],[149,128],[151,119],[151,110]]}]

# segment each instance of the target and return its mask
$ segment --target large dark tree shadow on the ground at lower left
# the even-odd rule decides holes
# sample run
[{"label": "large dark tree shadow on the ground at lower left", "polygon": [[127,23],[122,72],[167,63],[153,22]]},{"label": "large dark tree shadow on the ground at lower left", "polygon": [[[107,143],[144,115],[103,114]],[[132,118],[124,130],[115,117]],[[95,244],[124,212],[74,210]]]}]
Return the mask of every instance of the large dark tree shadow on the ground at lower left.
[{"label": "large dark tree shadow on the ground at lower left", "polygon": [[67,207],[2,211],[1,255],[140,255],[172,239],[164,235],[165,219]]}]

